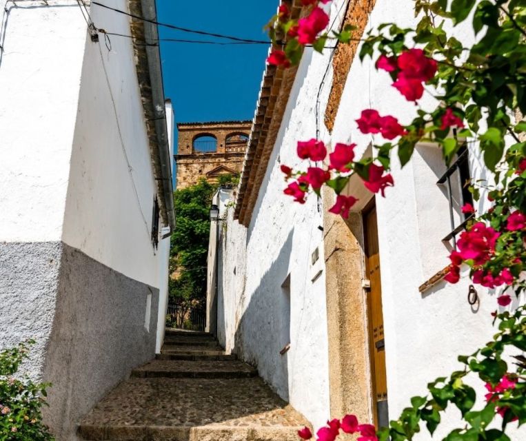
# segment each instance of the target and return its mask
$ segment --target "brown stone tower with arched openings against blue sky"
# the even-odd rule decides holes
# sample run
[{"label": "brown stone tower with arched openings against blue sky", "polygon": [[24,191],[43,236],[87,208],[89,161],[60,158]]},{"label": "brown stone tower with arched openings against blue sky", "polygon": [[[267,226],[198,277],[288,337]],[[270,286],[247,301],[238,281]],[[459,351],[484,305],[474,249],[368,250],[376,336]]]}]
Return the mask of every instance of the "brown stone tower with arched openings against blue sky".
[{"label": "brown stone tower with arched openings against blue sky", "polygon": [[179,123],[176,189],[199,178],[216,182],[223,174],[239,174],[252,121]]}]

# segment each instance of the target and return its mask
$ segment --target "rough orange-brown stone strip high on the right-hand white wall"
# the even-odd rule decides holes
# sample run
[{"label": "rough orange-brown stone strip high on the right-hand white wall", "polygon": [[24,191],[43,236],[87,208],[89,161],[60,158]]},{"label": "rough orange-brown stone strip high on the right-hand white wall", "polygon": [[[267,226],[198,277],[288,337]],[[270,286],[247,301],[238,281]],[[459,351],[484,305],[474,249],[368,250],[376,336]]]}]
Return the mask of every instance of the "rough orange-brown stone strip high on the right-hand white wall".
[{"label": "rough orange-brown stone strip high on the right-hand white wall", "polygon": [[[347,5],[343,25],[354,25],[356,30],[352,33],[354,39],[361,39],[365,26],[369,21],[369,14],[374,8],[376,0],[356,0]],[[342,25],[342,27],[343,27]],[[334,58],[332,59],[332,88],[325,109],[325,126],[332,132],[334,120],[340,107],[341,96],[347,81],[347,75],[351,69],[352,61],[358,50],[359,41],[351,41],[349,44],[338,44]]]}]

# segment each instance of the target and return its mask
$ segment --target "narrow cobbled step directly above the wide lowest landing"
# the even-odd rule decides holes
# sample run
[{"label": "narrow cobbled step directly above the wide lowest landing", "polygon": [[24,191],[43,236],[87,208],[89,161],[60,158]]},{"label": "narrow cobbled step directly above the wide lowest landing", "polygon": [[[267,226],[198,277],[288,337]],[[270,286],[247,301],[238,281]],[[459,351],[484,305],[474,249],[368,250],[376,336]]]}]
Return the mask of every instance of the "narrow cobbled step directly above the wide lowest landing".
[{"label": "narrow cobbled step directly above the wide lowest landing", "polygon": [[154,360],[132,371],[132,378],[250,378],[258,371],[241,361]]}]

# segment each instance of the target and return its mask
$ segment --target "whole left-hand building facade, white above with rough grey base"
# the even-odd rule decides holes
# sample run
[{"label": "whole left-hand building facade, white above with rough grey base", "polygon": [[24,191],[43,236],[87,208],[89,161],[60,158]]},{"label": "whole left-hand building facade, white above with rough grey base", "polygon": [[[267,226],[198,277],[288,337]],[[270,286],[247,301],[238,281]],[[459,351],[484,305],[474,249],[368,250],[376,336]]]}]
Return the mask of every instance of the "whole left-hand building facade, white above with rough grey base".
[{"label": "whole left-hand building facade, white above with rough grey base", "polygon": [[[123,14],[90,17],[130,35]],[[37,340],[28,372],[54,384],[46,421],[59,441],[153,358],[168,304],[169,228],[159,222],[154,247],[164,201],[132,39],[107,48],[87,28],[76,0],[0,0],[0,349]],[[172,158],[170,103],[166,114]]]}]

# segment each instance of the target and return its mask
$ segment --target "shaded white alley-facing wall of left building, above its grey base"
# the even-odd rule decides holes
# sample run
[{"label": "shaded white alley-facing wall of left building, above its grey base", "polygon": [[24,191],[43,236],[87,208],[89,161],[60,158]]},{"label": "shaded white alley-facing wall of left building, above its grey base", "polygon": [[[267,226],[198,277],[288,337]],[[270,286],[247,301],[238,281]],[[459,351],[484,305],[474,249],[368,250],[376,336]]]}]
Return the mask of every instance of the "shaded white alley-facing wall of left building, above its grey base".
[{"label": "shaded white alley-facing wall of left building, above its grey base", "polygon": [[[127,2],[114,0],[111,6],[125,10]],[[94,5],[90,15],[99,28],[130,33],[123,14]],[[112,50],[103,42],[86,44],[63,241],[159,287],[151,240],[156,185],[132,41],[110,38]]]}]

